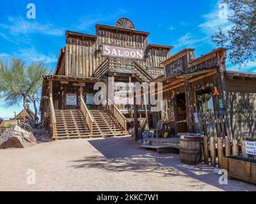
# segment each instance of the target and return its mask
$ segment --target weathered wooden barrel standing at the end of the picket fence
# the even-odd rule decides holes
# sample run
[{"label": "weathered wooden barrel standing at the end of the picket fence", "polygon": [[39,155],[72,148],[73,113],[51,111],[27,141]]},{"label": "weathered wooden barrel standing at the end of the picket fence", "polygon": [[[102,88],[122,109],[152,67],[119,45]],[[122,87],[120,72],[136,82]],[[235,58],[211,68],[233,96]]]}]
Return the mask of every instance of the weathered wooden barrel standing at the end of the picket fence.
[{"label": "weathered wooden barrel standing at the end of the picket fence", "polygon": [[180,138],[180,162],[189,165],[201,160],[201,137],[183,136]]}]

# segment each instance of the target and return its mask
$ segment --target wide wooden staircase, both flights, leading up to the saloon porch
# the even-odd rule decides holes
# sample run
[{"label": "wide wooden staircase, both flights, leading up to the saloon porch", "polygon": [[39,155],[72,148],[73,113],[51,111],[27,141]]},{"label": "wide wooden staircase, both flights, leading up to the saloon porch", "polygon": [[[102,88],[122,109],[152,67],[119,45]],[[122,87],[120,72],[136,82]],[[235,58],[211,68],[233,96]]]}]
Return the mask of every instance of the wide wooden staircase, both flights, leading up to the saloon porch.
[{"label": "wide wooden staircase, both flights, leading up to the saloon porch", "polygon": [[93,117],[92,133],[81,110],[54,110],[56,134],[52,139],[99,138],[125,136],[127,133],[113,113],[103,110],[90,110]]}]

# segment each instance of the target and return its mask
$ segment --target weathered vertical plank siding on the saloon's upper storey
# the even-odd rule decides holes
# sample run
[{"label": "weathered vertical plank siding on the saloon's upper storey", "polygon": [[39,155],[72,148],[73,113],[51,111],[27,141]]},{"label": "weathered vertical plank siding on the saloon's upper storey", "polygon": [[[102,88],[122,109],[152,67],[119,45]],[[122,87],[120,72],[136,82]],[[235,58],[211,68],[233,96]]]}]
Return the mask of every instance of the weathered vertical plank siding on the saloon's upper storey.
[{"label": "weathered vertical plank siding on the saloon's upper storey", "polygon": [[[102,57],[99,45],[108,43],[121,47],[142,48],[147,51],[148,38],[142,34],[129,34],[100,29],[97,31],[97,40],[93,38],[67,36],[65,52],[65,75],[77,77],[92,77],[93,72],[106,59]],[[144,61],[138,60],[141,66],[163,67],[162,61],[170,57],[168,48],[155,48]]]}]

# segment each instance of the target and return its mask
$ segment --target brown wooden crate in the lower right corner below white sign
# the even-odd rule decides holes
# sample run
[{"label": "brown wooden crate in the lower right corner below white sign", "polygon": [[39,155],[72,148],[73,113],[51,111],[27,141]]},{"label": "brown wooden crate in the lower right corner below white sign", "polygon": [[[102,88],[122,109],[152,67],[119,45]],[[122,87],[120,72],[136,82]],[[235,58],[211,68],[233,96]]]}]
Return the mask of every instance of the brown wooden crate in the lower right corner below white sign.
[{"label": "brown wooden crate in the lower right corner below white sign", "polygon": [[221,168],[228,171],[228,177],[256,184],[256,160],[238,156],[223,157]]}]

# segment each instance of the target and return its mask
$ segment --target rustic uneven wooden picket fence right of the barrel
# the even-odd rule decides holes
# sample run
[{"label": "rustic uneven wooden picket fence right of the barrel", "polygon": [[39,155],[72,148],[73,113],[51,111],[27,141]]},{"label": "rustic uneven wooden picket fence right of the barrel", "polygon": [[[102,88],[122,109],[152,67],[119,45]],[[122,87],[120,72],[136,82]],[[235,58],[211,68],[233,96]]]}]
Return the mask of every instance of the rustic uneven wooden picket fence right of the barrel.
[{"label": "rustic uneven wooden picket fence right of the barrel", "polygon": [[224,156],[247,157],[245,139],[256,136],[256,133],[233,135],[228,112],[196,113],[194,127],[196,133],[204,135],[202,161],[219,168]]}]

